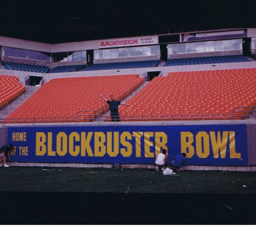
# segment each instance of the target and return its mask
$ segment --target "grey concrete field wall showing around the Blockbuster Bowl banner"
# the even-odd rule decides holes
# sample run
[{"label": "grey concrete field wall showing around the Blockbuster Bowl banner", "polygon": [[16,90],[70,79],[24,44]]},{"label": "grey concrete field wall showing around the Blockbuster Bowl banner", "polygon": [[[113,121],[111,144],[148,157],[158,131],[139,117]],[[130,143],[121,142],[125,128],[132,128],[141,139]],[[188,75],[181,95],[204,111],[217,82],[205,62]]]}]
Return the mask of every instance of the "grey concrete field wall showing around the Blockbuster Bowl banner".
[{"label": "grey concrete field wall showing around the Blockbuster Bowl banner", "polygon": [[[70,125],[74,125],[77,123],[71,123]],[[111,122],[100,122],[100,123],[84,123],[84,125],[94,125],[97,126],[103,126],[106,127],[107,125],[127,125],[127,124],[136,124],[136,122],[118,122],[118,123],[111,123]],[[140,122],[140,124],[150,124],[150,125],[198,125],[202,124],[202,121],[173,121],[173,122]],[[185,166],[185,170],[191,170],[191,171],[252,171],[256,172],[256,120],[206,120],[204,121],[204,124],[246,124],[247,125],[247,143],[248,143],[248,166]],[[41,124],[42,125],[42,124]],[[49,124],[48,126],[54,126],[58,125],[57,123]],[[63,125],[63,124],[61,124]],[[17,126],[17,125],[16,125]],[[24,126],[23,124],[20,124],[20,126]],[[33,125],[32,125],[33,126]],[[40,127],[40,124],[37,124],[37,126]],[[45,125],[44,125],[45,126]],[[79,124],[81,126],[81,124]],[[0,145],[6,144],[6,133],[8,128],[8,125],[0,125]],[[11,166],[49,166],[49,167],[85,167],[85,168],[99,168],[99,167],[105,167],[105,168],[112,168],[112,164],[102,164],[101,166],[93,165],[93,164],[76,164],[76,163],[70,163],[70,164],[54,164],[54,163],[22,163],[22,162],[10,162]],[[107,166],[106,166],[107,165]],[[121,168],[154,168],[154,165],[139,165],[139,164],[122,164],[120,165]]]}]

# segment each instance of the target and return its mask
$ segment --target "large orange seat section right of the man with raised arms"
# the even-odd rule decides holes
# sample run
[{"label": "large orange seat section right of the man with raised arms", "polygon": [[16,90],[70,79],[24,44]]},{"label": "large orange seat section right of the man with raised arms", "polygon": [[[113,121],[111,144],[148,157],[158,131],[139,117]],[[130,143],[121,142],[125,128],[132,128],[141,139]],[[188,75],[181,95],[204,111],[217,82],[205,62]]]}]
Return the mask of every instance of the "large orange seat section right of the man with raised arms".
[{"label": "large orange seat section right of the man with raised arms", "polygon": [[150,119],[153,115],[162,116],[159,119],[181,116],[227,119],[234,108],[256,105],[255,75],[256,69],[248,68],[177,72],[155,77],[128,101],[129,109],[120,107],[120,115],[122,118],[133,116],[128,117],[129,120],[146,120],[146,116]]}]

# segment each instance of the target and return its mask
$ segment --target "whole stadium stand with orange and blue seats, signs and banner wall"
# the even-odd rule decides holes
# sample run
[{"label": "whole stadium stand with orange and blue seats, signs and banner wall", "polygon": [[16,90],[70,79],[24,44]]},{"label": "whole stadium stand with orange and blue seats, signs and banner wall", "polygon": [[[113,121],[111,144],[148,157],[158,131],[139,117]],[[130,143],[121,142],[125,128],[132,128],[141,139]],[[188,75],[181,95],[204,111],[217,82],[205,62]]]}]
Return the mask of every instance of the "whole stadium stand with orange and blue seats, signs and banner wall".
[{"label": "whole stadium stand with orange and blue seats, signs and banner wall", "polygon": [[[255,29],[44,44],[0,37],[10,165],[256,171]],[[112,121],[109,99],[119,107]]]}]

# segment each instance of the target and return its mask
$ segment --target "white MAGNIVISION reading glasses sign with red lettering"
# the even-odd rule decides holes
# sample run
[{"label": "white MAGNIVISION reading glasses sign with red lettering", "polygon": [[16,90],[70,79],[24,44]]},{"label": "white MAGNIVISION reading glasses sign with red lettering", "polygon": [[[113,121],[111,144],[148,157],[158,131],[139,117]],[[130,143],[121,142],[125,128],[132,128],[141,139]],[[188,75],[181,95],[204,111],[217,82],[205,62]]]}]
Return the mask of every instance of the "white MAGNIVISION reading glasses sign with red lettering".
[{"label": "white MAGNIVISION reading glasses sign with red lettering", "polygon": [[123,46],[141,46],[158,44],[158,37],[136,37],[136,38],[121,38],[107,39],[99,41],[99,48],[123,47]]}]

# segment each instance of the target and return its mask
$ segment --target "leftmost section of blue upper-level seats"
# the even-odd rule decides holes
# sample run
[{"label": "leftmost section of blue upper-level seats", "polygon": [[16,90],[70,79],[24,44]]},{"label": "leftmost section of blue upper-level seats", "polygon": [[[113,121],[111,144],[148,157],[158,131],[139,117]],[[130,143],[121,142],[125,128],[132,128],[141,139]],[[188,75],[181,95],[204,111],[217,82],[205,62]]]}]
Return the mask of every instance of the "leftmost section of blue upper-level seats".
[{"label": "leftmost section of blue upper-level seats", "polygon": [[50,68],[48,66],[31,65],[31,64],[24,64],[24,63],[18,63],[18,62],[9,62],[9,61],[2,61],[2,66],[5,69],[36,72],[36,73],[48,73],[50,71]]}]

